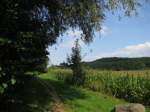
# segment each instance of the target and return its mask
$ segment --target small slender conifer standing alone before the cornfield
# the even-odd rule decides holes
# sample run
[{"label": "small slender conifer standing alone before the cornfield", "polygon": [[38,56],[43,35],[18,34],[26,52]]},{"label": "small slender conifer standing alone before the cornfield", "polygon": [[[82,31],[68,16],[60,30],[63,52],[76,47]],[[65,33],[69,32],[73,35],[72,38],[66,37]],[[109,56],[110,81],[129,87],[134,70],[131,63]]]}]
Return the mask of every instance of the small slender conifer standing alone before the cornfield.
[{"label": "small slender conifer standing alone before the cornfield", "polygon": [[73,71],[71,83],[78,86],[82,86],[85,81],[85,72],[81,61],[81,48],[77,39],[75,46],[72,48],[72,54],[68,57],[68,63]]}]

